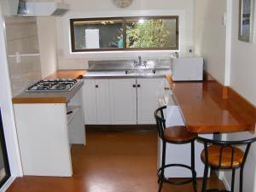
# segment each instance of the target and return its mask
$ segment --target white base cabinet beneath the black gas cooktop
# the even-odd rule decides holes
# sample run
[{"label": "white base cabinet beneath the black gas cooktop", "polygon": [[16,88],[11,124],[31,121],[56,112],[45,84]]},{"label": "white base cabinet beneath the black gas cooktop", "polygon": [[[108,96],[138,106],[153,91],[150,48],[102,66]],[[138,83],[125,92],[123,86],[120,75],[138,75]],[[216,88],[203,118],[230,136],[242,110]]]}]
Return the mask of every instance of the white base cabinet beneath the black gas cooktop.
[{"label": "white base cabinet beneath the black gas cooktop", "polygon": [[72,176],[70,143],[85,144],[80,95],[79,90],[68,103],[14,104],[24,175]]}]

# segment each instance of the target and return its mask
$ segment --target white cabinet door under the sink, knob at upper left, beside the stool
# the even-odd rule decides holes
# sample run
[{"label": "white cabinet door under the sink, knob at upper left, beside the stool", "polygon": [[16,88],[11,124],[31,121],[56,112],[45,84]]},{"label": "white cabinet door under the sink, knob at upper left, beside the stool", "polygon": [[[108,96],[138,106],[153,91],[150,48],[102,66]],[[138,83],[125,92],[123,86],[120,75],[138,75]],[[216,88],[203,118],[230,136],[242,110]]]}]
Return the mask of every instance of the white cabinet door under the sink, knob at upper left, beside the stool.
[{"label": "white cabinet door under the sink, knob at upper left, beside the stool", "polygon": [[165,79],[137,79],[137,123],[155,124],[154,110],[159,108]]}]

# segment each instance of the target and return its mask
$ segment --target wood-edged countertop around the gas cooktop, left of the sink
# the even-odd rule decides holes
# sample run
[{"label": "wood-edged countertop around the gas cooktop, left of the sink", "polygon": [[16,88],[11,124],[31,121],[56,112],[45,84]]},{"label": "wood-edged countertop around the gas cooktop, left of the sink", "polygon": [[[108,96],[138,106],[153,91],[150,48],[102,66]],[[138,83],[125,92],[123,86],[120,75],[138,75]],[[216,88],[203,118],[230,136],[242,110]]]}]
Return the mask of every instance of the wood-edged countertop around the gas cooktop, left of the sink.
[{"label": "wood-edged countertop around the gas cooktop, left of the sink", "polygon": [[[59,70],[46,79],[81,79],[85,70]],[[63,92],[22,92],[13,97],[13,104],[21,103],[67,103],[84,84],[83,80],[71,91]]]}]

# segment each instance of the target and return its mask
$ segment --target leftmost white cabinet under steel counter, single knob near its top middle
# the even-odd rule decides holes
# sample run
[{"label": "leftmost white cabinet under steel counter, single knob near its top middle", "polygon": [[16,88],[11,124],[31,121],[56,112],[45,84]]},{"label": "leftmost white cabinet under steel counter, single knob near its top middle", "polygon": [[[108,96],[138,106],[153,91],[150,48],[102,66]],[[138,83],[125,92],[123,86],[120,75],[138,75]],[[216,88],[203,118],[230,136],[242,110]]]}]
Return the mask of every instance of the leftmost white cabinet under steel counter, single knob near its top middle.
[{"label": "leftmost white cabinet under steel counter, single knob near its top middle", "polygon": [[84,80],[84,119],[86,125],[109,125],[108,79]]}]

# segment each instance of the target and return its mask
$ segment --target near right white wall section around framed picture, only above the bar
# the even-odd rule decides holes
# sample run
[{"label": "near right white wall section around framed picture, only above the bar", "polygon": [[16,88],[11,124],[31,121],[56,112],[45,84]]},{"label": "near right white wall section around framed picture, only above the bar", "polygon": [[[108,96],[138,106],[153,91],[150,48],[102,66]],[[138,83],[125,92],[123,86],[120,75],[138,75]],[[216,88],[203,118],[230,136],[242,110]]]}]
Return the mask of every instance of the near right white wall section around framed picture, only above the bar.
[{"label": "near right white wall section around framed picture, only above the bar", "polygon": [[233,0],[230,86],[256,105],[256,2],[254,6],[253,44],[238,41],[238,7],[238,0]]}]

